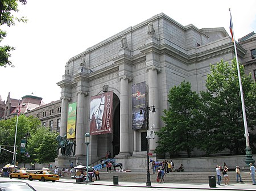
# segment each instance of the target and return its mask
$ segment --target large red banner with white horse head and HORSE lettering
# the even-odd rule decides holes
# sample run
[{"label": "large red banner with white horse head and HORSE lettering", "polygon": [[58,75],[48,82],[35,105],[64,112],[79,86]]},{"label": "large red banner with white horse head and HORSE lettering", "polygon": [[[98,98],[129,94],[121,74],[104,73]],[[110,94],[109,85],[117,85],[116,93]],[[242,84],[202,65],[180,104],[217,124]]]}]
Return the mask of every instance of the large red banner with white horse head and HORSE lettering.
[{"label": "large red banner with white horse head and HORSE lettering", "polygon": [[112,133],[113,92],[106,92],[90,99],[90,134]]}]

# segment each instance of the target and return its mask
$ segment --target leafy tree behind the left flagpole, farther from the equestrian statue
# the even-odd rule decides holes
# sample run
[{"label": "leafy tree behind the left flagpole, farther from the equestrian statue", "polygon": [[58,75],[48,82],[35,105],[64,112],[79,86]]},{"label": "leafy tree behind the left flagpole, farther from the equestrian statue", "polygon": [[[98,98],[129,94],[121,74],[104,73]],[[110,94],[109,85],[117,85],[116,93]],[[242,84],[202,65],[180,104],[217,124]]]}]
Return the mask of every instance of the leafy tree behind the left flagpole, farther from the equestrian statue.
[{"label": "leafy tree behind the left flagpole, farther from the equestrian statue", "polygon": [[[15,130],[16,130],[17,117],[10,118],[9,120],[0,121],[0,145],[14,146]],[[21,162],[23,154],[20,154],[20,143],[24,139],[24,135],[27,131],[33,134],[41,122],[38,118],[33,116],[26,117],[21,114],[18,118],[17,134],[16,134],[16,146],[17,152],[16,160]],[[13,147],[5,147],[7,150],[13,151]],[[13,154],[7,151],[1,151],[0,163],[10,163],[13,160]]]}]

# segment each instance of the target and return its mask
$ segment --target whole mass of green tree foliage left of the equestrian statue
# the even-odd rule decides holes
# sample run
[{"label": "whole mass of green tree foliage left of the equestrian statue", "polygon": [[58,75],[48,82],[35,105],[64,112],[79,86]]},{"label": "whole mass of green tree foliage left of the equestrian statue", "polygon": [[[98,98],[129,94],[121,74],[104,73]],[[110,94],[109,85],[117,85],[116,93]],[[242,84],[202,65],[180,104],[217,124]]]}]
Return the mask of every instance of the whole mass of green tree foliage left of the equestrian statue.
[{"label": "whole mass of green tree foliage left of the equestrian statue", "polygon": [[[16,129],[16,117],[9,120],[0,121],[0,145],[13,151]],[[30,155],[28,162],[52,162],[57,157],[57,142],[55,138],[57,133],[49,131],[49,128],[41,126],[41,121],[33,116],[26,117],[21,114],[18,118],[17,135],[16,135],[16,161],[24,162],[25,155],[20,153],[20,143],[24,139],[25,134],[29,132],[30,137],[27,138],[27,152]],[[13,154],[5,150],[1,151],[0,163],[10,163],[13,160]]]}]

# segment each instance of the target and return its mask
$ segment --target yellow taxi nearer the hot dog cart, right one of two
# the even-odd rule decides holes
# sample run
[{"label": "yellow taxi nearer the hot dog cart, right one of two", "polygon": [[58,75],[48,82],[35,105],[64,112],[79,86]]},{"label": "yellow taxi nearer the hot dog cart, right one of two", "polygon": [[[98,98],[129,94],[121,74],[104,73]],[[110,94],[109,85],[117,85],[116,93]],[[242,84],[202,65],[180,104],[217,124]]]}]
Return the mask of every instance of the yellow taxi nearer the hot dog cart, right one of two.
[{"label": "yellow taxi nearer the hot dog cart, right one of two", "polygon": [[38,171],[27,176],[28,180],[39,180],[39,181],[52,181],[60,180],[58,175],[53,174],[51,171]]}]

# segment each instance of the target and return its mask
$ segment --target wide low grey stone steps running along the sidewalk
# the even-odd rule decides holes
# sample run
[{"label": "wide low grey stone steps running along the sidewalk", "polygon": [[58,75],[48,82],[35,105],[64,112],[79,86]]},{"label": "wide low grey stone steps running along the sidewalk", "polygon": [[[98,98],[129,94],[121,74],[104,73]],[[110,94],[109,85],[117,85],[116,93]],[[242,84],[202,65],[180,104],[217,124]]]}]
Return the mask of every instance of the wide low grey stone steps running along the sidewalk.
[{"label": "wide low grey stone steps running along the sidewalk", "polygon": [[[236,172],[229,172],[229,183],[236,183]],[[100,170],[100,179],[102,181],[113,181],[113,176],[118,176],[120,182],[146,182],[147,172],[111,172],[108,173],[104,169]],[[215,172],[172,172],[168,173],[164,180],[166,182],[195,182],[195,183],[208,183],[209,176],[216,176]],[[251,176],[249,172],[241,173],[244,183],[251,183]],[[156,174],[150,173],[151,182],[156,182]],[[217,181],[217,176],[216,176]],[[222,184],[224,184],[224,177],[222,176]]]}]

